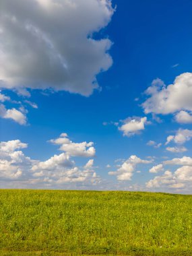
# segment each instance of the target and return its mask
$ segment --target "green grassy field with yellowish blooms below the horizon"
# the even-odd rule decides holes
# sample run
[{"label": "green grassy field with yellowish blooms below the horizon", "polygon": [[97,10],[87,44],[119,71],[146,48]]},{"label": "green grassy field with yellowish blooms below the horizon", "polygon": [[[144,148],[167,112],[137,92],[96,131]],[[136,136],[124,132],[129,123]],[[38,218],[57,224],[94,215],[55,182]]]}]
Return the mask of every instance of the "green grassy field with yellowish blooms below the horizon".
[{"label": "green grassy field with yellowish blooms below the horizon", "polygon": [[0,190],[0,255],[192,255],[192,196]]}]

